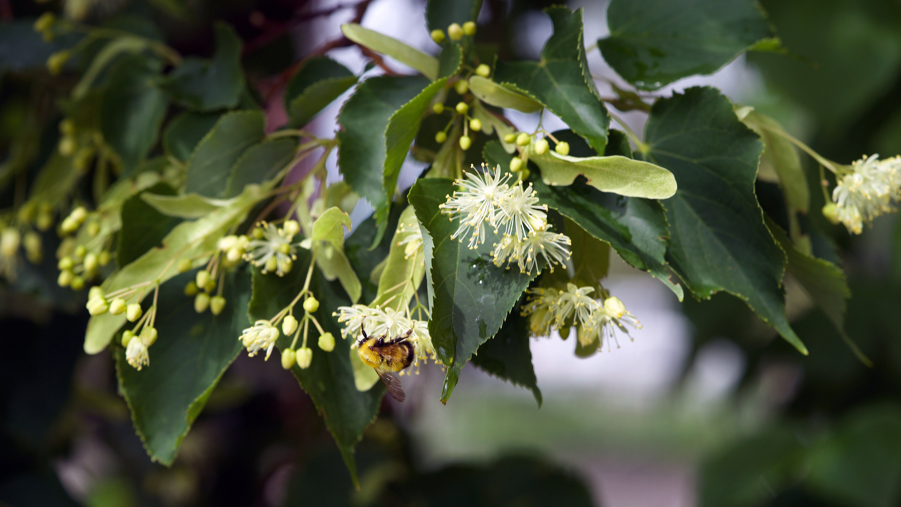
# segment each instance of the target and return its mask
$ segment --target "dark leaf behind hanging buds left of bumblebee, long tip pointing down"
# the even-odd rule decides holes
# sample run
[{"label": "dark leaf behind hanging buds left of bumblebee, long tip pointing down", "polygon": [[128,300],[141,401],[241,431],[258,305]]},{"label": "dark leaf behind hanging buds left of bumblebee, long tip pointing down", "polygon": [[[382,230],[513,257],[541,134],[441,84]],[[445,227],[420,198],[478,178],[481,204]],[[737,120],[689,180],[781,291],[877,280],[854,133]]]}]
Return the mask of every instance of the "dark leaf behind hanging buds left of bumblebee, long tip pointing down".
[{"label": "dark leaf behind hanging buds left of bumblebee, long tip pointing down", "polygon": [[[296,261],[297,267],[305,267],[309,262],[309,254],[302,250]],[[269,319],[281,311],[304,285],[305,276],[304,268],[293,269],[284,277],[261,275],[258,269],[254,269],[253,297],[248,309],[250,320]],[[319,349],[316,346],[315,331],[312,331],[307,342],[307,346],[313,349],[310,367],[300,369],[295,366],[291,369],[291,373],[296,376],[306,394],[313,399],[316,409],[323,415],[325,425],[341,450],[341,457],[344,458],[344,463],[356,484],[357,467],[353,458],[353,448],[362,438],[363,430],[375,420],[385,388],[378,383],[369,391],[360,392],[354,384],[353,367],[350,363],[350,340],[341,340],[341,326],[332,316],[332,312],[339,306],[350,304],[341,289],[315,273],[310,290],[319,300],[319,310],[314,312],[314,316],[324,330],[337,337],[335,348],[332,352]],[[311,326],[311,330],[313,329]],[[284,350],[290,344],[291,338],[281,336],[276,345],[278,349]]]}]

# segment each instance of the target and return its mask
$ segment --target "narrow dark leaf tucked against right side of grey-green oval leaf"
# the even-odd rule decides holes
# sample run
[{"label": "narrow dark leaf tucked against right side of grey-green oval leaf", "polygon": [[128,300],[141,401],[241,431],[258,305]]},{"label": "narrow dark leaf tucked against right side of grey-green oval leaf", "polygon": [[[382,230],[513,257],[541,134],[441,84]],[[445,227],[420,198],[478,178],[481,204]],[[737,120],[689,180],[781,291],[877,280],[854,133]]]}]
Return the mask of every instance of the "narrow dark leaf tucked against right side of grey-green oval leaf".
[{"label": "narrow dark leaf tucked against right side of grey-green oval leaf", "polygon": [[245,185],[262,183],[276,177],[294,159],[297,143],[293,139],[264,140],[246,149],[232,166],[225,182],[223,197],[241,194]]}]

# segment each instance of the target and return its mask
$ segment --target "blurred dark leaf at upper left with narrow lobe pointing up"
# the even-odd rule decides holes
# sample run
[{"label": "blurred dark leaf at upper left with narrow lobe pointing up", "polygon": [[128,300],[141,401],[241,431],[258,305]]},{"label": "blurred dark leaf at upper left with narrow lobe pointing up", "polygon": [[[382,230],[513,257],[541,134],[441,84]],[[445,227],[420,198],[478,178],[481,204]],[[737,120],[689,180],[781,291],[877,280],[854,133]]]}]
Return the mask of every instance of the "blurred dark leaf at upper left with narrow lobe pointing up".
[{"label": "blurred dark leaf at upper left with narrow lobe pointing up", "polygon": [[214,31],[213,59],[187,58],[161,85],[174,102],[196,111],[235,107],[244,91],[241,38],[226,23],[214,23]]}]

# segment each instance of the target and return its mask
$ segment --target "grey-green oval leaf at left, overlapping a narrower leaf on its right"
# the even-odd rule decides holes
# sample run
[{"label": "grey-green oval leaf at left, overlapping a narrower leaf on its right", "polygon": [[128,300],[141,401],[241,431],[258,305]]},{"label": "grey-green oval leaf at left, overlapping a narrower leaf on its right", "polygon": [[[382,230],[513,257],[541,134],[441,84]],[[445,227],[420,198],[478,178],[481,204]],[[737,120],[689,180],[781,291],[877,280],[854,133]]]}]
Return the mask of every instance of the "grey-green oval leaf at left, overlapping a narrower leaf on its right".
[{"label": "grey-green oval leaf at left, overlapping a narrower leaf on its right", "polygon": [[261,111],[225,113],[187,160],[186,193],[222,197],[235,162],[266,135]]}]

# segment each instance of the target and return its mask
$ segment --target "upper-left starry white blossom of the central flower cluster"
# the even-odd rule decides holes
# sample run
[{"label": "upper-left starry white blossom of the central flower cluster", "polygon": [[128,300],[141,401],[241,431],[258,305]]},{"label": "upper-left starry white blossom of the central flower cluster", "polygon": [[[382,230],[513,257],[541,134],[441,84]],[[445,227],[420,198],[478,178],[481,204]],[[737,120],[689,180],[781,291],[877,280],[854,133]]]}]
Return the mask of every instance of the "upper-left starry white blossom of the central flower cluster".
[{"label": "upper-left starry white blossom of the central flower cluster", "polygon": [[485,222],[497,229],[498,207],[510,191],[506,185],[511,177],[510,173],[501,176],[500,166],[492,169],[482,164],[482,167],[485,169],[482,174],[468,172],[465,178],[455,180],[454,183],[463,187],[463,190],[455,191],[452,196],[448,195],[447,202],[439,206],[441,213],[451,215],[451,220],[460,217],[460,227],[451,234],[451,240],[472,229],[470,249],[485,242]]}]

